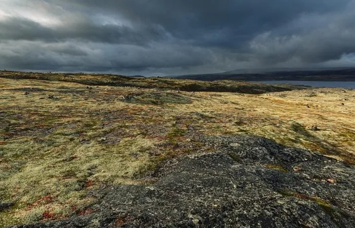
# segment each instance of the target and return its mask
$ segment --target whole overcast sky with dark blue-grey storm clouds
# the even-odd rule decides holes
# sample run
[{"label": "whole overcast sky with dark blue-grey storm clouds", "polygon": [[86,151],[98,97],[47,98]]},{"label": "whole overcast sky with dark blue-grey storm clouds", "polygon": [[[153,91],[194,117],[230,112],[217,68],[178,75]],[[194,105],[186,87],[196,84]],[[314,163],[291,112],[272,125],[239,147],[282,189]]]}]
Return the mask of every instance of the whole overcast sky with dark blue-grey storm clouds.
[{"label": "whole overcast sky with dark blue-grey storm clouds", "polygon": [[355,66],[355,0],[0,0],[0,69]]}]

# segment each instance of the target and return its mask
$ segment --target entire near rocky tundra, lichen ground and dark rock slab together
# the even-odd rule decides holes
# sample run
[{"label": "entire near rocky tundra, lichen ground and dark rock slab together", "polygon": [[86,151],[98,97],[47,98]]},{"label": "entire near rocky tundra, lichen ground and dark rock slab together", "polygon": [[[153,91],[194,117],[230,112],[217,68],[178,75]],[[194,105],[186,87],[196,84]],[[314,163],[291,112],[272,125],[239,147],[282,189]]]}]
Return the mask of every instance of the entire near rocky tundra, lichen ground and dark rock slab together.
[{"label": "entire near rocky tundra, lichen ground and dark rock slab together", "polygon": [[354,98],[0,72],[0,227],[353,227]]}]

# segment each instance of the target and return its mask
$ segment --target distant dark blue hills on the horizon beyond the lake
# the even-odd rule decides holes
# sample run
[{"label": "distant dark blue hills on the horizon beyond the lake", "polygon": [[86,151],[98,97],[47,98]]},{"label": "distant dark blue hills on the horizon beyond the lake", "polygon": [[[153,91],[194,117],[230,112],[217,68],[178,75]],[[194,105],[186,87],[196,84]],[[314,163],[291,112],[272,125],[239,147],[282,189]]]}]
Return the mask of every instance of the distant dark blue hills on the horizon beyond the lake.
[{"label": "distant dark blue hills on the horizon beyond the lake", "polygon": [[221,73],[177,75],[171,78],[200,81],[355,81],[355,67],[238,69]]}]

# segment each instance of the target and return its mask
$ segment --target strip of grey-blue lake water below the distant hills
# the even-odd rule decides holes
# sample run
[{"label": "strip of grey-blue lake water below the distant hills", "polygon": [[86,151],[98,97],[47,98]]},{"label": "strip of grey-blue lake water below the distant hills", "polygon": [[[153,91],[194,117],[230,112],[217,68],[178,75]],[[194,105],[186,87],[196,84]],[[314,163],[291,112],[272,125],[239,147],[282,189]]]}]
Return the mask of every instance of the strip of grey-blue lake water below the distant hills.
[{"label": "strip of grey-blue lake water below the distant hills", "polygon": [[312,86],[312,87],[331,87],[331,88],[351,88],[351,89],[355,89],[355,82],[263,81],[261,83],[266,83],[266,84],[293,84],[293,85],[305,85],[305,86]]}]

